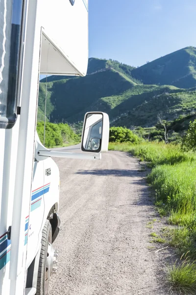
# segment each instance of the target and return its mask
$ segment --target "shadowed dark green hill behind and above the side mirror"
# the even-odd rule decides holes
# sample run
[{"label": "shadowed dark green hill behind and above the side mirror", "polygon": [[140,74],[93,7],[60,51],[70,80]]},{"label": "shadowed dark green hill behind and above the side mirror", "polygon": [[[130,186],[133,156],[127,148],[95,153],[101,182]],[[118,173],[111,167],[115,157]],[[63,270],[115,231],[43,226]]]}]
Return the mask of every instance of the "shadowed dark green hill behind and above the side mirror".
[{"label": "shadowed dark green hill behind and above the side mirror", "polygon": [[[65,79],[48,83],[47,118],[51,122],[73,123],[82,120],[87,111],[109,111],[111,106],[101,100],[120,95],[136,85],[127,76],[108,69],[84,78]],[[40,83],[39,108],[45,108],[45,83]],[[40,118],[38,117],[38,120]]]}]

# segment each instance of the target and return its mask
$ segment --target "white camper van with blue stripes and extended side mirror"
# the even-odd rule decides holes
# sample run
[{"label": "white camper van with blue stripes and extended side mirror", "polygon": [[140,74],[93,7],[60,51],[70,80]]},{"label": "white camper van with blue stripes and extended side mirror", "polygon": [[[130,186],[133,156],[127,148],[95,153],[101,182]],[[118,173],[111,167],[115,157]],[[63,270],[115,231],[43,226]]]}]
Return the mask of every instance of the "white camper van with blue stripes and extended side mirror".
[{"label": "white camper van with blue stripes and extended side mirror", "polygon": [[36,133],[39,74],[85,76],[87,64],[88,0],[0,0],[0,295],[47,295],[57,270],[51,157],[96,160],[107,151],[101,112],[85,115],[78,154],[51,151]]}]

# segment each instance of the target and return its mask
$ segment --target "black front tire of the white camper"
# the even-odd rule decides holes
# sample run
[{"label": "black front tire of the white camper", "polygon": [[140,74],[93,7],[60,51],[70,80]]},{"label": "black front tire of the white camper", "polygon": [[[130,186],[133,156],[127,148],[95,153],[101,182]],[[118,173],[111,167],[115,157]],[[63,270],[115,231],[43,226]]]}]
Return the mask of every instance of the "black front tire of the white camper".
[{"label": "black front tire of the white camper", "polygon": [[36,295],[47,295],[49,289],[49,277],[47,274],[47,256],[48,246],[52,242],[52,229],[49,220],[46,220],[42,231],[42,246],[40,253],[38,277],[37,277],[37,292]]}]

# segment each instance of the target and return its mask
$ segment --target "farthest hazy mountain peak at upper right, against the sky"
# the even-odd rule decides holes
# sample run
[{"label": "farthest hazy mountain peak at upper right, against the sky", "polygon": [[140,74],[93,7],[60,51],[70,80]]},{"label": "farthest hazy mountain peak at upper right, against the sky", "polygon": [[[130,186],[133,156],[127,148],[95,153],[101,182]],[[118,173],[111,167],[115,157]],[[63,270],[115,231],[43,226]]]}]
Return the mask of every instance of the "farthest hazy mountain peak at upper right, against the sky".
[{"label": "farthest hazy mountain peak at upper right, against the sky", "polygon": [[196,86],[196,48],[186,47],[131,71],[144,84]]}]

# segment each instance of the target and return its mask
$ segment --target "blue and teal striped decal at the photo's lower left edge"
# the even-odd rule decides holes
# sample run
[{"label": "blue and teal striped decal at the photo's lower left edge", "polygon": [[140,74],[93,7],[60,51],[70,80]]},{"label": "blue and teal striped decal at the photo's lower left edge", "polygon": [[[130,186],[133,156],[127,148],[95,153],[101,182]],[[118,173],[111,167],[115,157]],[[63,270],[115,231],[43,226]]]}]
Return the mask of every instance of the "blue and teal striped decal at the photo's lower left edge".
[{"label": "blue and teal striped decal at the photo's lower left edge", "polygon": [[7,239],[7,233],[0,236],[0,269],[10,261],[11,241]]}]

